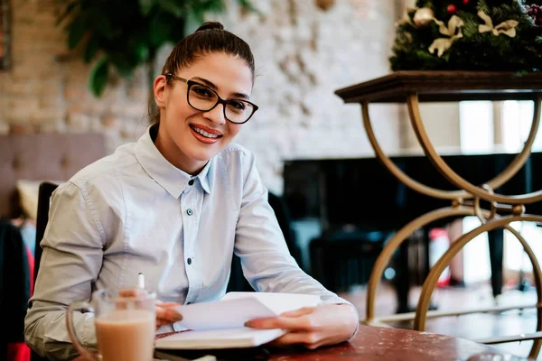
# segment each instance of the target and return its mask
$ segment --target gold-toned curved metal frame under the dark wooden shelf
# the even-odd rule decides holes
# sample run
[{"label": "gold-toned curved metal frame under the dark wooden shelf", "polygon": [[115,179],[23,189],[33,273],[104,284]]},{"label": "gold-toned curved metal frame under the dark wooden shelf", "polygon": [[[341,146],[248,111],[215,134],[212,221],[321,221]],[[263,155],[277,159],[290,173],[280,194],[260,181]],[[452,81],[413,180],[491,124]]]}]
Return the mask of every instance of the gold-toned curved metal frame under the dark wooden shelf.
[{"label": "gold-toned curved metal frame under the dark wooden shelf", "polygon": [[[542,95],[537,94],[535,102],[535,111],[533,115],[533,122],[531,125],[528,139],[524,144],[523,150],[518,153],[509,166],[497,175],[492,180],[489,180],[481,187],[475,186],[467,180],[464,180],[455,171],[453,171],[436,153],[435,147],[431,143],[431,140],[425,132],[425,126],[422,122],[419,112],[419,100],[417,93],[411,93],[406,97],[406,104],[408,106],[408,114],[410,116],[410,123],[416,133],[416,137],[422,148],[424,149],[425,156],[434,164],[436,169],[440,171],[444,177],[451,181],[453,185],[457,186],[459,190],[438,190],[426,186],[425,184],[413,180],[401,171],[394,162],[392,162],[388,156],[380,148],[377,138],[373,132],[370,117],[369,117],[369,101],[361,102],[363,125],[369,136],[369,142],[372,145],[378,159],[384,164],[388,171],[397,177],[398,180],[406,184],[413,190],[416,190],[422,194],[438,199],[450,199],[451,207],[435,209],[425,215],[416,218],[402,227],[393,236],[384,247],[382,253],[378,256],[377,262],[372,270],[369,278],[368,292],[367,292],[367,319],[361,320],[361,322],[369,325],[382,325],[387,321],[394,320],[394,316],[388,318],[375,317],[375,299],[378,288],[378,283],[382,278],[382,274],[386,266],[388,265],[392,255],[395,254],[397,248],[406,240],[408,236],[411,236],[416,229],[425,227],[426,225],[434,222],[435,220],[448,218],[448,217],[464,217],[464,216],[476,216],[481,220],[481,226],[473,229],[472,231],[464,234],[457,239],[448,249],[448,251],[439,259],[435,266],[429,272],[420,295],[420,300],[417,305],[415,315],[405,315],[401,319],[414,319],[414,329],[423,331],[425,330],[425,320],[428,318],[444,317],[450,315],[461,315],[466,313],[472,313],[470,311],[458,311],[453,312],[434,312],[432,311],[428,315],[429,301],[431,295],[435,290],[436,282],[438,281],[441,273],[450,264],[453,257],[463,249],[463,246],[467,245],[475,236],[479,236],[483,232],[488,232],[497,228],[507,229],[512,235],[514,235],[526,253],[528,254],[531,264],[533,264],[533,273],[535,277],[535,283],[537,288],[537,304],[531,307],[537,308],[537,332],[542,331],[542,271],[540,265],[537,262],[537,258],[534,255],[532,249],[525,241],[525,239],[519,235],[519,233],[509,226],[511,222],[516,221],[532,221],[542,223],[542,216],[526,215],[525,204],[530,204],[542,200],[542,190],[536,192],[505,196],[496,194],[493,190],[498,189],[501,185],[510,180],[527,162],[531,152],[532,144],[537,135],[538,125],[540,123],[540,106],[542,102]],[[480,207],[480,201],[485,200],[490,202],[490,209],[483,209]],[[507,216],[501,216],[499,213],[508,212],[511,213]],[[518,308],[525,308],[525,306],[518,306]],[[491,312],[500,311],[501,308],[489,308],[483,310],[476,310],[477,312]],[[414,317],[413,317],[414,316]],[[397,315],[397,317],[401,317]],[[530,338],[534,340],[533,347],[530,350],[529,357],[536,358],[540,347],[542,347],[542,338],[535,337]],[[502,338],[500,342],[507,341],[508,338]],[[521,338],[526,339],[526,338]],[[491,338],[491,343],[499,343],[498,338]]]}]

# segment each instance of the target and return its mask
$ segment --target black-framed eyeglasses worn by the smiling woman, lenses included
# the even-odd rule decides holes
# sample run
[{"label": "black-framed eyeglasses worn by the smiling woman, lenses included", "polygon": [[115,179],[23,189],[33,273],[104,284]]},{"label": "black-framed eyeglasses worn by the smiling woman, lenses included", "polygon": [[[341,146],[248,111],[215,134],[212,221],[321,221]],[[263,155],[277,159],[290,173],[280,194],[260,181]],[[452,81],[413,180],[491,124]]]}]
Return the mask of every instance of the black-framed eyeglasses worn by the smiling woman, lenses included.
[{"label": "black-framed eyeglasses worn by the smiling woman, lenses included", "polygon": [[172,73],[164,74],[166,78],[180,80],[188,85],[186,100],[188,105],[201,112],[209,112],[221,104],[224,108],[224,117],[231,123],[243,124],[257,111],[257,105],[244,99],[224,100],[213,89],[197,81],[183,79]]}]

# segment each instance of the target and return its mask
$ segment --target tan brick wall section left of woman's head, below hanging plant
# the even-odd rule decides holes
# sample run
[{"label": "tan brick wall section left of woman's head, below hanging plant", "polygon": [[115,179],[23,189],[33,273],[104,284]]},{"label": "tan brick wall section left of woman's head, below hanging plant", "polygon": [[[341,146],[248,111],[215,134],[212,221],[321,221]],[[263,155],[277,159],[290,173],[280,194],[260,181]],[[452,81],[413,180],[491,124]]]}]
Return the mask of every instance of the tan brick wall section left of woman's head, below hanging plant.
[{"label": "tan brick wall section left of woman's head, below hanging plant", "polygon": [[110,150],[135,139],[145,125],[145,72],[126,81],[113,77],[103,97],[87,88],[90,67],[67,51],[54,0],[14,0],[12,68],[0,72],[0,131],[107,134]]}]

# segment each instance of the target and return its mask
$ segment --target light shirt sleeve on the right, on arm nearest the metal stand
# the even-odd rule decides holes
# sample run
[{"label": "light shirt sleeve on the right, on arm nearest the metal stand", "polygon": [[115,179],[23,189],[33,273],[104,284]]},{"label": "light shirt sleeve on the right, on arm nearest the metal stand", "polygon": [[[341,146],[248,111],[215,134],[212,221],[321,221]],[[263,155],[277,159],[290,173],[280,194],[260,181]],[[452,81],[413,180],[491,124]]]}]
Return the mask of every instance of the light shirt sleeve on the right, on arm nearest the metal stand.
[{"label": "light shirt sleeve on the right, on arm nearest the metal stand", "polygon": [[[290,255],[285,237],[267,200],[267,190],[257,172],[253,155],[248,164],[236,229],[235,252],[243,273],[259,292],[286,292],[319,295],[322,303],[350,304],[326,290],[298,266]],[[358,314],[358,311],[356,310]]]}]

